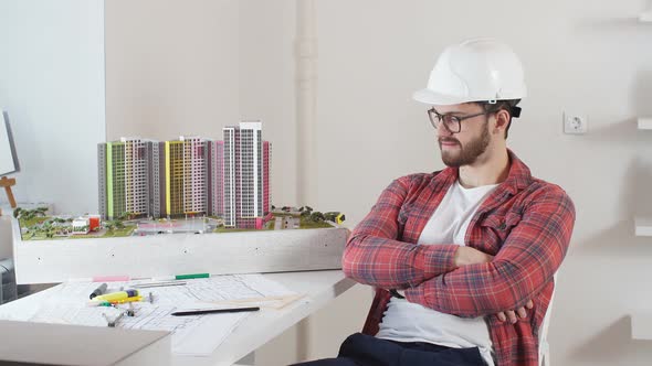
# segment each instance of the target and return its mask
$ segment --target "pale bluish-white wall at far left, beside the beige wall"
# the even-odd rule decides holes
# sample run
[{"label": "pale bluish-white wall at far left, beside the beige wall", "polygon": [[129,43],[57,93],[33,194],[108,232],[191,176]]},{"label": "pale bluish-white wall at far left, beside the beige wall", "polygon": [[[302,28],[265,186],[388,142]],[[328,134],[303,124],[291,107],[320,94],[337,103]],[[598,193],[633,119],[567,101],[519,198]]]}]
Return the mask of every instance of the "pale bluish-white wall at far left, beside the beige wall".
[{"label": "pale bluish-white wall at far left, beside the beige wall", "polygon": [[9,112],[21,166],[17,201],[96,212],[104,1],[0,0],[0,109]]}]

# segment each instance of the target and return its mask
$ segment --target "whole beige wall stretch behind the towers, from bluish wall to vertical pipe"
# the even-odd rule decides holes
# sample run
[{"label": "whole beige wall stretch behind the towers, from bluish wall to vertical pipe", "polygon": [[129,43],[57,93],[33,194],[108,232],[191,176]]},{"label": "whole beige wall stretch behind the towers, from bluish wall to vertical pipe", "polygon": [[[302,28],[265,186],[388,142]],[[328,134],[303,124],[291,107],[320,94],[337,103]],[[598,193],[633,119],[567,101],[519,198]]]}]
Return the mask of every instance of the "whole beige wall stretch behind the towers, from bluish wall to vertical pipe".
[{"label": "whole beige wall stretch behind the towers, from bluish wall to vertical pipe", "polygon": [[194,134],[262,119],[272,202],[295,202],[294,2],[106,3],[108,140]]}]

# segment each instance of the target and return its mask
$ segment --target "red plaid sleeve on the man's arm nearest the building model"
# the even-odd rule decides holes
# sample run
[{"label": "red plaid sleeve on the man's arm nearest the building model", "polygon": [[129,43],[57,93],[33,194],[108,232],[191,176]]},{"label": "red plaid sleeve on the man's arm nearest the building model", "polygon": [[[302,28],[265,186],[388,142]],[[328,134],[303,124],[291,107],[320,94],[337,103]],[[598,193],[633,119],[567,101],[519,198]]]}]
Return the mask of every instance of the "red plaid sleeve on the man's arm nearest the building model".
[{"label": "red plaid sleeve on the man's arm nearest the building model", "polygon": [[399,215],[410,176],[393,181],[348,239],[343,270],[354,280],[382,289],[404,289],[455,268],[456,245],[418,246],[401,241]]}]

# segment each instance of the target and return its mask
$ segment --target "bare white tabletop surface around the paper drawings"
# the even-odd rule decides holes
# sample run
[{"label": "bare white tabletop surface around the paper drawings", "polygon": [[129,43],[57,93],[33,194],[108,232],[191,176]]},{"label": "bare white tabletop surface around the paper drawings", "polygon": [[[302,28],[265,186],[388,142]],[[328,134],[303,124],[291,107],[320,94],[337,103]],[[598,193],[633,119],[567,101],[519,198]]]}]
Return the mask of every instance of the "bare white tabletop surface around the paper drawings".
[{"label": "bare white tabletop surface around the paper drawings", "polygon": [[[255,355],[253,355],[255,349],[355,284],[353,280],[346,279],[340,270],[266,273],[264,277],[305,297],[281,310],[262,309],[246,316],[212,355],[208,357],[172,355],[171,364],[178,366],[231,366],[235,363],[255,365]],[[48,291],[1,305],[0,319],[21,320],[21,314],[31,313],[31,309],[39,305]]]}]

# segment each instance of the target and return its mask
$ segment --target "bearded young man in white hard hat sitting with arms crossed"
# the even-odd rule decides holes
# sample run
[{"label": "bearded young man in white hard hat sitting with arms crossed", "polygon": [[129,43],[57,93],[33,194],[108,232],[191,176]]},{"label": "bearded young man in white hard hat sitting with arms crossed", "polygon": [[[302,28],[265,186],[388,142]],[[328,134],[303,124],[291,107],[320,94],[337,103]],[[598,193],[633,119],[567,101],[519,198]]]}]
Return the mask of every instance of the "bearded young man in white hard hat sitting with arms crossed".
[{"label": "bearded young man in white hard hat sitting with arms crossed", "polygon": [[538,365],[538,332],[575,208],[506,147],[526,88],[505,44],[465,41],[414,99],[446,169],[393,181],[348,240],[343,268],[374,286],[364,334],[306,365]]}]

